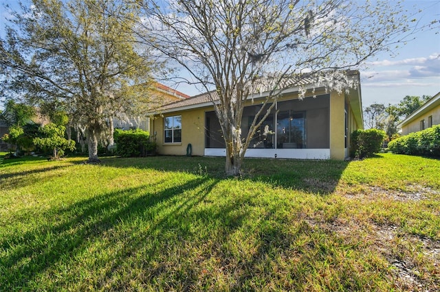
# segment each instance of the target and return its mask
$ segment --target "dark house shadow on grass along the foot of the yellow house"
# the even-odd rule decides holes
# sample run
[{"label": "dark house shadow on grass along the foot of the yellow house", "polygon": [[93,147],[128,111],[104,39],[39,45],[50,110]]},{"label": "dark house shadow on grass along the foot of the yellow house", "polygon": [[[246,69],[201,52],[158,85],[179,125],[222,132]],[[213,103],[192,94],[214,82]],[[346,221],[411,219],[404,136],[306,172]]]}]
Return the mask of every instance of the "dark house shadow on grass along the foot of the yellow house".
[{"label": "dark house shadow on grass along the foot of the yellow house", "polygon": [[[159,171],[184,171],[225,179],[225,158],[155,156],[148,158],[106,158],[111,167],[138,167]],[[348,161],[246,158],[242,180],[263,182],[318,195],[333,193]]]}]

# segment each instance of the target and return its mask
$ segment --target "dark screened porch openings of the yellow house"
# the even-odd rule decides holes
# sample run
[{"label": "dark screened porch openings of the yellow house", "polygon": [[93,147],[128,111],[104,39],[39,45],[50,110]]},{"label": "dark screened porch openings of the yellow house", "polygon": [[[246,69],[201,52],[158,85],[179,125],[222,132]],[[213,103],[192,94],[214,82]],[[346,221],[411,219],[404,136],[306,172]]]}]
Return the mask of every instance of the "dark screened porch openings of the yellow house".
[{"label": "dark screened porch openings of the yellow house", "polygon": [[[330,95],[307,97],[303,100],[278,101],[267,119],[256,129],[249,147],[252,149],[329,149],[329,106]],[[241,138],[248,136],[249,127],[260,109],[261,105],[246,106],[243,109]],[[347,119],[349,119],[348,114]],[[215,112],[206,112],[205,121],[205,147],[224,148],[223,132]]]}]

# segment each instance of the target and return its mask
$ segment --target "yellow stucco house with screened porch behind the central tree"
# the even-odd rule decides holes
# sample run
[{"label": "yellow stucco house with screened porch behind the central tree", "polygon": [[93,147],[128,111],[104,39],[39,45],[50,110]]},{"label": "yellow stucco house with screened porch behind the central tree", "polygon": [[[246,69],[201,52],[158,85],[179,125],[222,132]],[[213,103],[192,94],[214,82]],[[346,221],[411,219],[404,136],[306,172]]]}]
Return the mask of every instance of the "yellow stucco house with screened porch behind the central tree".
[{"label": "yellow stucco house with screened porch behind the central tree", "polygon": [[[245,153],[247,157],[344,160],[349,156],[350,133],[363,128],[360,76],[351,71],[358,82],[348,93],[326,92],[324,87],[311,93],[305,78],[292,84],[278,99],[276,110],[267,117]],[[311,82],[311,81],[309,81]],[[308,84],[308,85],[307,85]],[[305,86],[305,98],[298,98]],[[159,154],[185,155],[188,144],[195,156],[225,156],[221,128],[209,94],[197,95],[167,104],[151,119]],[[259,99],[267,92],[254,94],[243,110],[242,136],[259,109]],[[257,97],[258,95],[258,97]],[[313,97],[316,95],[316,97]],[[217,96],[218,99],[218,96]]]}]

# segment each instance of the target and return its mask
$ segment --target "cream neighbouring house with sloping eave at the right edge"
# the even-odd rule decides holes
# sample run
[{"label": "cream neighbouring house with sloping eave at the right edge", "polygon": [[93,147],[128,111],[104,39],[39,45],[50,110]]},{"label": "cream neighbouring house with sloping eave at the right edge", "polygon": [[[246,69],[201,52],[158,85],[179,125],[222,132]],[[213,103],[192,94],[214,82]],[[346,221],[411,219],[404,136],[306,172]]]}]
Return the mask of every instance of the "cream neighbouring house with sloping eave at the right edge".
[{"label": "cream neighbouring house with sloping eave at the right edge", "polygon": [[431,97],[420,108],[412,112],[397,128],[401,129],[402,135],[425,130],[433,125],[440,124],[440,93]]}]

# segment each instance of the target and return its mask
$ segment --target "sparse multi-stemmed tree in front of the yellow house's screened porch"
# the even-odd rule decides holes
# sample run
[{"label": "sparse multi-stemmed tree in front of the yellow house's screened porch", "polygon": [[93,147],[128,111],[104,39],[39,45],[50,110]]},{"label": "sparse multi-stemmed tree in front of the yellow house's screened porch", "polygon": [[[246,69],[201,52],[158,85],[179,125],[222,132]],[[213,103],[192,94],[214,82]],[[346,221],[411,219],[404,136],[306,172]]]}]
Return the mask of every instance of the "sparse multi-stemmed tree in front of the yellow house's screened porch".
[{"label": "sparse multi-stemmed tree in front of the yellow house's screened porch", "polygon": [[[239,175],[252,136],[291,84],[285,77],[310,72],[315,87],[324,84],[342,92],[355,84],[340,69],[359,66],[410,34],[401,7],[388,1],[137,3],[146,13],[139,23],[145,29],[140,32],[144,42],[183,66],[203,91],[214,90],[219,96],[214,110],[223,132],[228,175]],[[269,94],[243,137],[245,102],[250,93],[259,91]],[[300,88],[301,96],[305,92]]]}]

